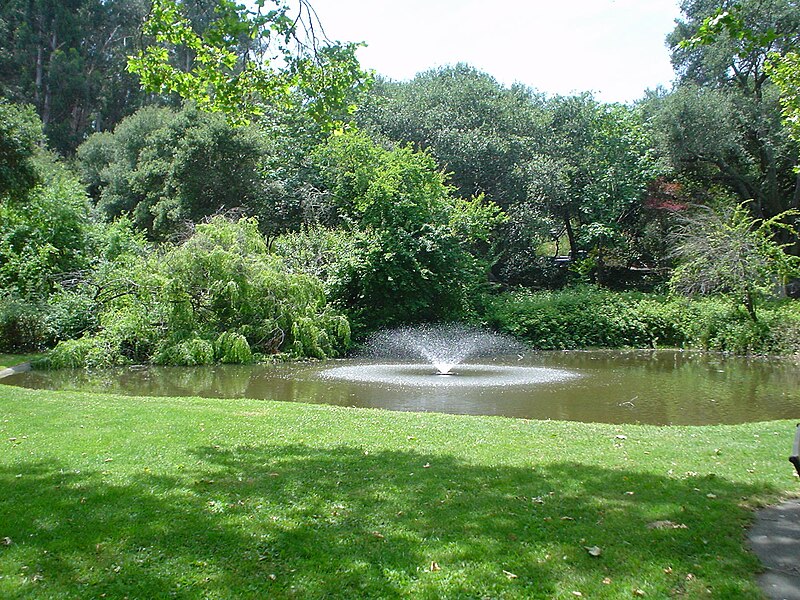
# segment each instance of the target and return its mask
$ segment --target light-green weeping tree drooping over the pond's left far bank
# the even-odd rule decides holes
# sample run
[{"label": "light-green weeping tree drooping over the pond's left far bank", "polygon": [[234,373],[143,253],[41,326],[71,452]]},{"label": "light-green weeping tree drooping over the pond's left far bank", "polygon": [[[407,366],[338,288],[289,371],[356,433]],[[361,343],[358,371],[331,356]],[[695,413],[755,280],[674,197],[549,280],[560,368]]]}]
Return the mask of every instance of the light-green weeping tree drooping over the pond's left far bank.
[{"label": "light-green weeping tree drooping over the pond's left far bank", "polygon": [[118,261],[87,287],[107,297],[97,306],[99,327],[56,346],[52,366],[324,358],[349,341],[319,281],[288,273],[252,219],[216,217],[178,246]]}]

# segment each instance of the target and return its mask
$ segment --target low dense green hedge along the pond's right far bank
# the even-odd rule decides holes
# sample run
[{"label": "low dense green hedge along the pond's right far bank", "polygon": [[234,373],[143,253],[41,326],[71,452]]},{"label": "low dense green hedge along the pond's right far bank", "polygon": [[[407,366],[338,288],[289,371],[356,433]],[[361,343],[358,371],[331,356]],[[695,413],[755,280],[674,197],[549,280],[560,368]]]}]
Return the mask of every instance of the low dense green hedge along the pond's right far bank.
[{"label": "low dense green hedge along the pond's right far bank", "polygon": [[736,354],[800,352],[800,305],[765,303],[753,322],[725,298],[690,300],[580,287],[491,299],[486,320],[541,350],[679,347]]}]

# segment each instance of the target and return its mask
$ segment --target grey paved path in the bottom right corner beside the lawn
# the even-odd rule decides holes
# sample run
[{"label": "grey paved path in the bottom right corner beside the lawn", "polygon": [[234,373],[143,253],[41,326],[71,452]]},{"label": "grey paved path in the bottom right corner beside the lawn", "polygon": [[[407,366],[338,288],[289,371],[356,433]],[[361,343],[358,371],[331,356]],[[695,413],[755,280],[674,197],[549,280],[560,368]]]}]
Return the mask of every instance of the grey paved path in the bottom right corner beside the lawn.
[{"label": "grey paved path in the bottom right corner beside the lawn", "polygon": [[800,499],[756,513],[748,534],[766,571],[758,582],[770,600],[800,600]]}]

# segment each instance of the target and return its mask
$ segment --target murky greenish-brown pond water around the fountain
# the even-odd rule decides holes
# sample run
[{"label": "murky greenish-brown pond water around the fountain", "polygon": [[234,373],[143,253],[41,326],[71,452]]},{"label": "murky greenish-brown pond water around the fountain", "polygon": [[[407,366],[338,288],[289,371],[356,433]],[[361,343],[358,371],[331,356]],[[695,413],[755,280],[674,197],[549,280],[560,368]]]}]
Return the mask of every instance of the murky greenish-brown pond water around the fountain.
[{"label": "murky greenish-brown pond water around the fountain", "polygon": [[339,360],[32,371],[3,384],[131,396],[263,398],[526,419],[709,425],[800,418],[800,365],[680,351],[554,352],[428,365]]}]

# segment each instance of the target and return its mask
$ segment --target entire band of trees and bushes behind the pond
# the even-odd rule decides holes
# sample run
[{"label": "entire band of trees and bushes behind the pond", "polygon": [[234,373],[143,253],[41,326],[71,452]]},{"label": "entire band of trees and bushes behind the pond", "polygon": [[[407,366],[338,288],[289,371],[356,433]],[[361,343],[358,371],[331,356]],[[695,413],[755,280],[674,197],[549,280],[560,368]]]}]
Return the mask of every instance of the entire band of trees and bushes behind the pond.
[{"label": "entire band of trees and bushes behind the pond", "polygon": [[[220,18],[181,4],[199,32]],[[800,8],[739,4],[762,46],[684,48],[719,5],[684,2],[674,88],[631,105],[459,64],[354,87],[331,132],[300,99],[233,126],[142,92],[145,0],[6,2],[0,351],[249,362],[470,320],[540,348],[797,352],[778,297],[800,147],[764,65],[797,47]]]}]

